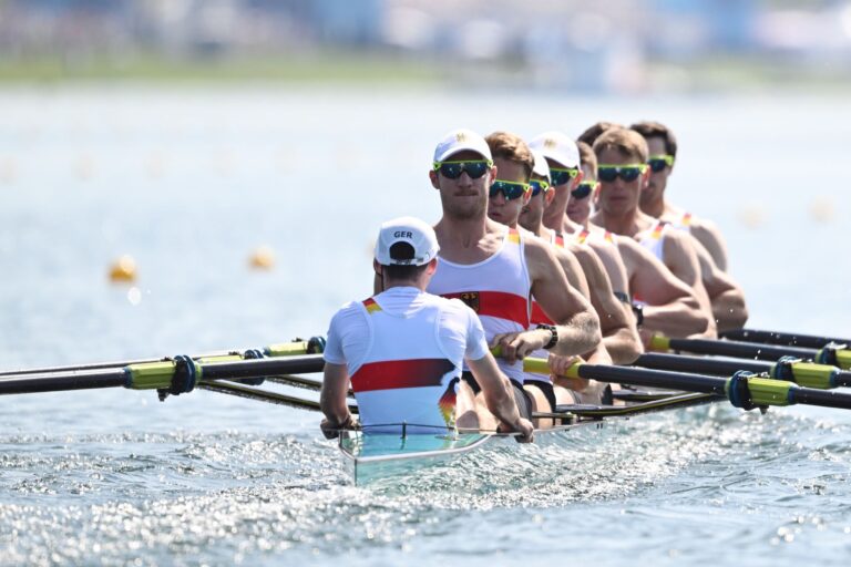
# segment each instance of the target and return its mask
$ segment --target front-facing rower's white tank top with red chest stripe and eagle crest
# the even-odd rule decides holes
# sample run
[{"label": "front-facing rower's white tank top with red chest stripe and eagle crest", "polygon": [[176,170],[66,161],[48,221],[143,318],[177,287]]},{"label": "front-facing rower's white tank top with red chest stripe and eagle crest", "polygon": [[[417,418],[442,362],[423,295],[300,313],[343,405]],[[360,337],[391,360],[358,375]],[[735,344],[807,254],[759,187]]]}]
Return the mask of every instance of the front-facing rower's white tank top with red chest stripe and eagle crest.
[{"label": "front-facing rower's white tank top with red chest stripe and eagle crest", "polygon": [[[470,306],[490,342],[495,334],[529,329],[531,288],[523,238],[515,228],[505,227],[499,251],[478,264],[455,264],[438,256],[428,291]],[[505,375],[523,383],[522,361],[509,364],[498,358],[496,362]]]}]

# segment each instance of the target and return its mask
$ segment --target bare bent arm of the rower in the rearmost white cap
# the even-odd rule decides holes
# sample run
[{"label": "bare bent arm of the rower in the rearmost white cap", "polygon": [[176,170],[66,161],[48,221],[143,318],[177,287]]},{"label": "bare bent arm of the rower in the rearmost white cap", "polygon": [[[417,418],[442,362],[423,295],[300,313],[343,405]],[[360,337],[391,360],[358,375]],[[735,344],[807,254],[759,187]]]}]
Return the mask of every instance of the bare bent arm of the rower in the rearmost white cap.
[{"label": "bare bent arm of the rower in the rearmost white cap", "polygon": [[674,338],[705,333],[709,316],[691,289],[638,243],[624,238],[618,244],[630,272],[629,289],[647,303],[644,328]]}]

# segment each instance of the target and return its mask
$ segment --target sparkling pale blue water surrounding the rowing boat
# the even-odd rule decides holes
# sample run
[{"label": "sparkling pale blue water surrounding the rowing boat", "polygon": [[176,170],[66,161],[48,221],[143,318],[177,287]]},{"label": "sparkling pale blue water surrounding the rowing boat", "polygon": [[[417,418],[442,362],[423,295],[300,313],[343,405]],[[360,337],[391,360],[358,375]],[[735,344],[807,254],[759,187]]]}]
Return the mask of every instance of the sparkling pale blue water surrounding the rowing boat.
[{"label": "sparkling pale blue water surrounding the rowing boat", "polygon": [[[391,216],[439,216],[428,171],[455,126],[677,132],[676,202],[714,218],[751,326],[851,334],[851,104],[751,95],[0,93],[0,367],[262,347],[368,297]],[[252,271],[259,245],[274,270]],[[135,290],[113,286],[132,254]],[[304,394],[310,395],[310,394]],[[0,564],[839,564],[851,420],[697,409],[594,443],[356,488],[318,416],[195,392],[0,400]],[[485,482],[486,480],[486,482]]]}]

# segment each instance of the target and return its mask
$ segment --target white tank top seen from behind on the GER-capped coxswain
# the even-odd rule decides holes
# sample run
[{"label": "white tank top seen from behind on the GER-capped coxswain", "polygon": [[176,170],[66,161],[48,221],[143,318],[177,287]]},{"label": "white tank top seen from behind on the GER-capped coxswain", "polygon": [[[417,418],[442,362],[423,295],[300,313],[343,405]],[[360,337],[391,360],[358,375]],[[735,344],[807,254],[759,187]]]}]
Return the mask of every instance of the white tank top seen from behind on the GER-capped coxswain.
[{"label": "white tank top seen from behind on the GER-capped coxswain", "polygon": [[375,298],[360,303],[369,337],[362,361],[349,372],[359,419],[368,431],[398,432],[402,423],[406,433],[454,427],[466,321],[457,326],[460,340],[444,344],[440,327],[447,303],[426,295],[421,308],[404,316],[385,311]]}]

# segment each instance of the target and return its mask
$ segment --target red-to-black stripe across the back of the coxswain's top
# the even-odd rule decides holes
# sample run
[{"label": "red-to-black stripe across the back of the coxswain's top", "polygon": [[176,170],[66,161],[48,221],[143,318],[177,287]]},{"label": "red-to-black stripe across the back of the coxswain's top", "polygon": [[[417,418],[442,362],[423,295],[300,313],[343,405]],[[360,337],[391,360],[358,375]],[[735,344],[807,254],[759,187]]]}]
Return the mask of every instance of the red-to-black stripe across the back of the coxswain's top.
[{"label": "red-to-black stripe across the back of the coxswain's top", "polygon": [[387,360],[369,362],[351,377],[355,392],[440,385],[455,367],[447,359]]}]

